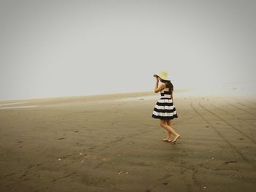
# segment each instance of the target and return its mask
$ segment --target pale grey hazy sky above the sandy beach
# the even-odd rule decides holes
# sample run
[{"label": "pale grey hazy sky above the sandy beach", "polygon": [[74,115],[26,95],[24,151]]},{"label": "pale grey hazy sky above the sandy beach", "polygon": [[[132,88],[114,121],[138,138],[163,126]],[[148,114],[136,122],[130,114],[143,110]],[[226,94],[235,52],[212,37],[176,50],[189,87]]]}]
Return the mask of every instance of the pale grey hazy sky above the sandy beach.
[{"label": "pale grey hazy sky above the sandy beach", "polygon": [[255,81],[256,1],[0,0],[0,99]]}]

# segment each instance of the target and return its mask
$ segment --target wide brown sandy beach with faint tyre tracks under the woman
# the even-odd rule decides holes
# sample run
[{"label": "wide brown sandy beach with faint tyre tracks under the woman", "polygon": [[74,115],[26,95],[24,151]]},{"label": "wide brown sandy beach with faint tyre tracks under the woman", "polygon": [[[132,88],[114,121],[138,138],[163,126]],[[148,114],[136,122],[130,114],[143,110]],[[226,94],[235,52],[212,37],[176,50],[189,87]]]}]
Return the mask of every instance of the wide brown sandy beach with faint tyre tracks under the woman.
[{"label": "wide brown sandy beach with faint tyre tracks under the woman", "polygon": [[0,101],[0,191],[256,191],[256,99],[159,94]]}]

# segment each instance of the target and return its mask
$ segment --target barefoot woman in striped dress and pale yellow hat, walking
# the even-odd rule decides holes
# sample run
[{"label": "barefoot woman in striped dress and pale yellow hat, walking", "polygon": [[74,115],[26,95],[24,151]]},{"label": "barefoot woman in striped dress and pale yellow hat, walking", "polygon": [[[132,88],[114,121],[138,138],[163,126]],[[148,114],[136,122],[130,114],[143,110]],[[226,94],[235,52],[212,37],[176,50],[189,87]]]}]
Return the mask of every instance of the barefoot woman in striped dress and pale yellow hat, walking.
[{"label": "barefoot woman in striped dress and pale yellow hat, walking", "polygon": [[[160,72],[159,74],[154,74],[156,77],[156,85],[154,92],[158,93],[160,91],[161,98],[157,101],[157,104],[154,107],[152,118],[157,118],[160,120],[160,126],[167,130],[167,137],[163,139],[165,142],[176,142],[180,135],[174,131],[171,127],[171,121],[173,118],[178,118],[176,108],[173,105],[173,84],[167,77],[167,72]],[[158,86],[159,80],[162,82]],[[170,140],[171,135],[173,134],[173,140]]]}]

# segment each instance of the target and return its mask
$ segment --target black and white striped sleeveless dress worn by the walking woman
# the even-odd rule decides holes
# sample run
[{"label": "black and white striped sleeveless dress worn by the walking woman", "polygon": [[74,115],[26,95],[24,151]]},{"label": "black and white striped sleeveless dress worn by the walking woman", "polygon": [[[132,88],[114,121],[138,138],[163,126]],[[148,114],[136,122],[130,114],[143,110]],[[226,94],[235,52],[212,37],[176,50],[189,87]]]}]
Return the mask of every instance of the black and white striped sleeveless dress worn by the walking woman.
[{"label": "black and white striped sleeveless dress worn by the walking woman", "polygon": [[158,99],[157,104],[154,107],[152,118],[162,120],[178,118],[176,108],[173,104],[173,99],[171,99],[169,88],[163,89],[160,93],[161,98]]}]

